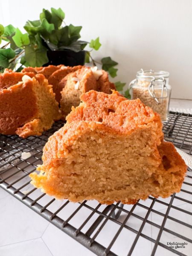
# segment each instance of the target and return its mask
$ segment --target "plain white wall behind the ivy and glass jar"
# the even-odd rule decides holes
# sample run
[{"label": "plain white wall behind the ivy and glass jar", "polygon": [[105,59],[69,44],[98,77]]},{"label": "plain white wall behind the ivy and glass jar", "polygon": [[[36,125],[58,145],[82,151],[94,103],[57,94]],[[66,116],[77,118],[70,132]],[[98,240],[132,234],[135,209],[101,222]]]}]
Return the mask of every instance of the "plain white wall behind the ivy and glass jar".
[{"label": "plain white wall behind the ivy and glass jar", "polygon": [[83,26],[82,40],[100,37],[97,57],[119,62],[114,81],[128,84],[140,68],[166,70],[172,98],[192,99],[192,0],[0,0],[0,23],[21,28],[50,7]]}]

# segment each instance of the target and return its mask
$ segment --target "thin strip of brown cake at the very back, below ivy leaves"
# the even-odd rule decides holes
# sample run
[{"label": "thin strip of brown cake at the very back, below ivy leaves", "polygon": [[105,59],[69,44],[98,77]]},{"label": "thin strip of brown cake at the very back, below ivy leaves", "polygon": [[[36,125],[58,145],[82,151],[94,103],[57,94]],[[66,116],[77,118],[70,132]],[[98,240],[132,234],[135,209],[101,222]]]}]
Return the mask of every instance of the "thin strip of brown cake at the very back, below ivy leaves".
[{"label": "thin strip of brown cake at the very back, below ivy leaves", "polygon": [[59,70],[64,65],[53,66],[49,65],[47,67],[25,67],[21,70],[22,73],[32,72],[34,74],[43,74],[46,79],[49,79],[49,76],[52,75],[56,70]]}]

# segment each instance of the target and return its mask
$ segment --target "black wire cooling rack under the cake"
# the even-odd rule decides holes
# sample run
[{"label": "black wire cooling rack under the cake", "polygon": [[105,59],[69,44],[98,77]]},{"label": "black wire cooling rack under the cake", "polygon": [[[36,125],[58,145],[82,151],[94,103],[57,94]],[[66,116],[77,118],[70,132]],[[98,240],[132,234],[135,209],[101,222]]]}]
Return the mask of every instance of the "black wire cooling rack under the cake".
[{"label": "black wire cooling rack under the cake", "polygon": [[[63,122],[55,122],[42,136],[27,139],[0,135],[0,187],[96,255],[190,255],[191,169],[180,193],[166,199],[150,196],[135,205],[63,200],[54,207],[54,198],[30,184],[29,174],[41,164],[44,144],[62,126]],[[165,140],[192,154],[192,115],[170,112],[163,132]],[[31,157],[22,160],[22,152],[30,152]]]}]

